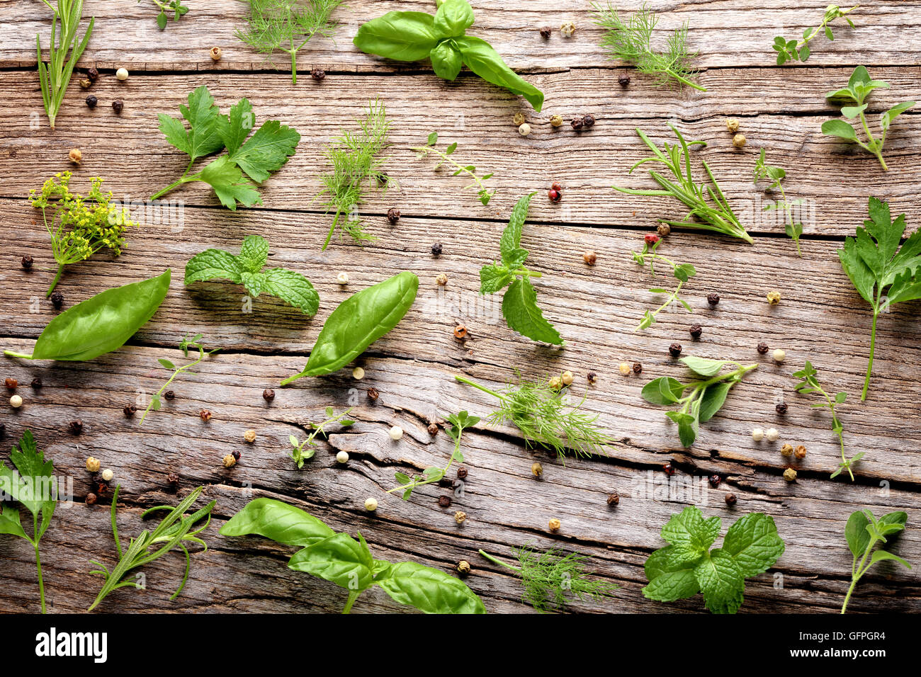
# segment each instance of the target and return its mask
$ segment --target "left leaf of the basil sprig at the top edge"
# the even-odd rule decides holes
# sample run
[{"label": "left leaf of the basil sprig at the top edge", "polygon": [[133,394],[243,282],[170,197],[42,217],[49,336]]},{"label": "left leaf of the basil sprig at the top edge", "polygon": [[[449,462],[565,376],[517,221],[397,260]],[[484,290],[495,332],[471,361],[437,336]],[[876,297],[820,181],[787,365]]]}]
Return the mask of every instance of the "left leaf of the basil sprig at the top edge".
[{"label": "left leaf of the basil sprig at the top edge", "polygon": [[394,61],[422,61],[435,49],[435,17],[425,12],[388,12],[362,24],[355,46]]}]

